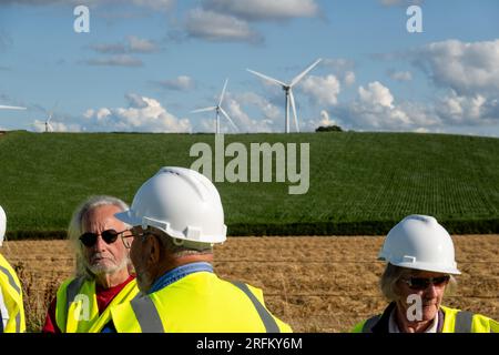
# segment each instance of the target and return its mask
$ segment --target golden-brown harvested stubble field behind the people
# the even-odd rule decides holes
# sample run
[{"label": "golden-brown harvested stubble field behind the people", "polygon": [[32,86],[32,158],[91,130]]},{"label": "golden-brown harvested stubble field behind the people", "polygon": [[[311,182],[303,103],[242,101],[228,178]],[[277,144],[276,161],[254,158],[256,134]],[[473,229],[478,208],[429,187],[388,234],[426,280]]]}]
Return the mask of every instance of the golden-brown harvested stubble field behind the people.
[{"label": "golden-brown harvested stubble field behind the people", "polygon": [[[462,275],[445,304],[499,320],[499,235],[454,241]],[[231,237],[215,248],[215,270],[262,287],[267,307],[295,332],[347,332],[386,305],[377,287],[381,243],[377,236]],[[59,283],[72,273],[68,242],[7,242],[1,252],[18,270],[28,327],[37,332]]]}]

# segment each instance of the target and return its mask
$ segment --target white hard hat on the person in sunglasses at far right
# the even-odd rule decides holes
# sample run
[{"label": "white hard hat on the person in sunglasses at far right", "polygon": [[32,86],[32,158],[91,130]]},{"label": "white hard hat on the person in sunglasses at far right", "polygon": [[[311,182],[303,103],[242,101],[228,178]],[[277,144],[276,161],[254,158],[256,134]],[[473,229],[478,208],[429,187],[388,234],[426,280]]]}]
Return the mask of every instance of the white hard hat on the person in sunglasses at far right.
[{"label": "white hard hat on the person in sunglasses at far right", "polygon": [[452,239],[435,217],[427,215],[413,214],[394,226],[378,260],[401,267],[460,274]]}]

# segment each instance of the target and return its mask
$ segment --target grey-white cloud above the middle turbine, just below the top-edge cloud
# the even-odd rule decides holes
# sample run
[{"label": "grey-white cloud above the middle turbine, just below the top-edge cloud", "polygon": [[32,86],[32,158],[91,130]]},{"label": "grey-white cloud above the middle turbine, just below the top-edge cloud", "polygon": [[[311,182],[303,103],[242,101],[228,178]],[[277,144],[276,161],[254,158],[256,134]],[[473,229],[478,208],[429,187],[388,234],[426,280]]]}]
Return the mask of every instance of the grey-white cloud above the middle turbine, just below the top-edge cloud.
[{"label": "grey-white cloud above the middle turbine, just below the top-edge cloud", "polygon": [[262,41],[262,37],[246,21],[200,8],[189,11],[185,29],[189,37],[208,41]]}]

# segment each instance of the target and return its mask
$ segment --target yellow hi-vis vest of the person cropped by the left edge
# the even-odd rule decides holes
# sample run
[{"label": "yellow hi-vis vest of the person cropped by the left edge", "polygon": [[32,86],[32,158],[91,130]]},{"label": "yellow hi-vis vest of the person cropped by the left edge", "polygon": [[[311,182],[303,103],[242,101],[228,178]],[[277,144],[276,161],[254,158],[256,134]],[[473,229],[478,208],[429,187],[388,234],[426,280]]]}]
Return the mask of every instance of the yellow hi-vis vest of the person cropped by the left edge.
[{"label": "yellow hi-vis vest of the person cropped by the left edge", "polygon": [[[3,327],[2,316],[0,314],[0,333],[24,333],[24,305],[22,304],[22,287],[18,275],[10,266],[9,262],[0,254],[0,292],[9,320]],[[0,312],[1,313],[1,312]]]}]

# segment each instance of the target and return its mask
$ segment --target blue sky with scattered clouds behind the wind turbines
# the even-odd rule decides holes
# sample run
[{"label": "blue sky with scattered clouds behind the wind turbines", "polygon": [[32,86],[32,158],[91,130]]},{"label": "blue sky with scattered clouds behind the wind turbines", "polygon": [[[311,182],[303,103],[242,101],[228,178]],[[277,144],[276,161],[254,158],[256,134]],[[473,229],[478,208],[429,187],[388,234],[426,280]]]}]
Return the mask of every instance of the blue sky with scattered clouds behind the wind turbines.
[{"label": "blue sky with scattered clouds behind the wind turbines", "polygon": [[498,14],[495,0],[3,0],[0,104],[28,110],[1,110],[0,129],[42,131],[53,110],[55,131],[213,132],[213,112],[191,111],[228,78],[238,131],[282,132],[284,92],[246,69],[288,82],[322,58],[293,89],[301,131],[499,136]]}]

